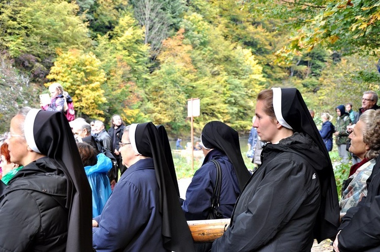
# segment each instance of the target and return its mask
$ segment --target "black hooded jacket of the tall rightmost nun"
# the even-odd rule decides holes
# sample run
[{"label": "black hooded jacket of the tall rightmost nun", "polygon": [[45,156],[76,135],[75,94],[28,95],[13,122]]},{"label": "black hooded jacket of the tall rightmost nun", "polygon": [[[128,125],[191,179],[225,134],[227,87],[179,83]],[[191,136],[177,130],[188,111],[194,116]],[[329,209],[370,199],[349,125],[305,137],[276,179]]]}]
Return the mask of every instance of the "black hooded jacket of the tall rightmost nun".
[{"label": "black hooded jacket of the tall rightmost nun", "polygon": [[327,165],[323,157],[303,134],[268,143],[211,251],[310,251],[321,201],[316,167]]}]

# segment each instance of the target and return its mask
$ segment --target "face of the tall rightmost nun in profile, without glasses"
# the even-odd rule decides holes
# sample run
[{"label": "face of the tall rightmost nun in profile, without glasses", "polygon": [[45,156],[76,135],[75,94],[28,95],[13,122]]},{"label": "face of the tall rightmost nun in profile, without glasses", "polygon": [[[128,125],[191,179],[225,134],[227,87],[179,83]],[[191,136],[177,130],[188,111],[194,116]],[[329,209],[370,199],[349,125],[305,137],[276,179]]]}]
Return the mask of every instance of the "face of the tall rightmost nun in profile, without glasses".
[{"label": "face of the tall rightmost nun in profile, without glasses", "polygon": [[257,134],[260,136],[261,141],[264,142],[277,142],[278,135],[278,122],[276,119],[270,117],[264,112],[264,102],[258,100],[256,103],[256,119],[253,127],[257,129]]}]

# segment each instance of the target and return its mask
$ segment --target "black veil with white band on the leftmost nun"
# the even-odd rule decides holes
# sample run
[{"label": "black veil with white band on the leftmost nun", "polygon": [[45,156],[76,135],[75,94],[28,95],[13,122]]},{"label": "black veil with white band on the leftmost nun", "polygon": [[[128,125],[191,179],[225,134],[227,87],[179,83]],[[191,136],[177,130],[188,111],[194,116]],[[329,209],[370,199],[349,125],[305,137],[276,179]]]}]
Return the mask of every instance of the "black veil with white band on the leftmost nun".
[{"label": "black veil with white band on the leftmost nun", "polygon": [[66,251],[92,251],[91,188],[67,118],[61,112],[31,109],[24,132],[28,146],[55,159],[67,179]]}]

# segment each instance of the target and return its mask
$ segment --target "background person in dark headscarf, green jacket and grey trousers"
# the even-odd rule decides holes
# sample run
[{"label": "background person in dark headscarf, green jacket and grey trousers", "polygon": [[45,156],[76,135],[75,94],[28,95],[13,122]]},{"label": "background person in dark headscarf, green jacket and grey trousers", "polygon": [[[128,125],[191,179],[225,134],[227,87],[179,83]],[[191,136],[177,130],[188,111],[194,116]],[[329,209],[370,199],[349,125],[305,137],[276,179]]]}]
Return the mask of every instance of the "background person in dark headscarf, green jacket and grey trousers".
[{"label": "background person in dark headscarf, green jacket and grey trousers", "polygon": [[338,154],[342,163],[349,162],[349,152],[347,151],[348,133],[347,127],[351,124],[351,119],[348,113],[345,111],[344,105],[339,105],[336,110],[336,125],[335,125],[335,142],[338,148]]}]

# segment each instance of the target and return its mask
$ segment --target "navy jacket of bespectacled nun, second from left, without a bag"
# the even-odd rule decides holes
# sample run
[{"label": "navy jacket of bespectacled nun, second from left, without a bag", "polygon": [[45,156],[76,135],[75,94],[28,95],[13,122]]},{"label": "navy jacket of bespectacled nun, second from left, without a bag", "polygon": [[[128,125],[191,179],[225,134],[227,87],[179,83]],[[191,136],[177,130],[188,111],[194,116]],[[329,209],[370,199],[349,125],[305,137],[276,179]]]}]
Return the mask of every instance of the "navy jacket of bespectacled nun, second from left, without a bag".
[{"label": "navy jacket of bespectacled nun, second from left, without a bag", "polygon": [[92,231],[96,251],[168,251],[152,158],[140,159],[123,173],[102,214],[94,219],[99,224]]}]

